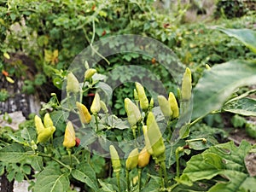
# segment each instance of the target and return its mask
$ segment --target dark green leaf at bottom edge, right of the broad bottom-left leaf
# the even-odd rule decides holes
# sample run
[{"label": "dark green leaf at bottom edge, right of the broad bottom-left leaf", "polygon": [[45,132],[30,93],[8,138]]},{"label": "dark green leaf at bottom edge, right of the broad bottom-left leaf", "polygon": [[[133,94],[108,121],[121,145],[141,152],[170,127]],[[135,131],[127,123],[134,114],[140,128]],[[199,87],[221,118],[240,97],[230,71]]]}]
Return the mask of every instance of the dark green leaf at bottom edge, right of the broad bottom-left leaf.
[{"label": "dark green leaf at bottom edge, right of the broad bottom-left leaf", "polygon": [[91,166],[87,163],[80,164],[77,169],[71,172],[72,176],[80,182],[86,183],[91,189],[98,190],[96,185],[96,174]]}]

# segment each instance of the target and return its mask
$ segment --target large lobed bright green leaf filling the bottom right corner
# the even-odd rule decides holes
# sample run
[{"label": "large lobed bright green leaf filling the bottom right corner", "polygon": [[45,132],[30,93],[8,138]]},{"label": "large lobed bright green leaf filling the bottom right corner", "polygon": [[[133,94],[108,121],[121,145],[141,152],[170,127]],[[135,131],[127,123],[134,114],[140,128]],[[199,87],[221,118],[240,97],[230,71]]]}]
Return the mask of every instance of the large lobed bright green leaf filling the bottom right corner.
[{"label": "large lobed bright green leaf filling the bottom right corner", "polygon": [[256,179],[250,177],[247,173],[244,162],[251,148],[251,144],[245,141],[241,142],[239,147],[230,142],[208,148],[202,154],[195,155],[189,160],[183,175],[178,179],[179,183],[188,184],[189,180],[195,183],[205,179],[210,180],[215,176],[221,176],[226,181],[217,181],[208,191],[247,191],[248,183],[251,186],[256,184]]}]

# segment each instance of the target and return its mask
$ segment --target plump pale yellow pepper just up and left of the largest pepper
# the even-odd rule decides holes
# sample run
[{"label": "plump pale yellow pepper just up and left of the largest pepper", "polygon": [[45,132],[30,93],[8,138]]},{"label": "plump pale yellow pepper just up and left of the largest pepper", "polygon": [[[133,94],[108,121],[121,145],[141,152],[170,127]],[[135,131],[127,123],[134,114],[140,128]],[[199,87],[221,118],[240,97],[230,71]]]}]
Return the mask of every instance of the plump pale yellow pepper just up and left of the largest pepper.
[{"label": "plump pale yellow pepper just up and left of the largest pepper", "polygon": [[137,122],[142,119],[142,114],[137,108],[137,105],[131,102],[129,98],[125,98],[125,111],[127,113],[128,122],[131,127],[136,125]]}]

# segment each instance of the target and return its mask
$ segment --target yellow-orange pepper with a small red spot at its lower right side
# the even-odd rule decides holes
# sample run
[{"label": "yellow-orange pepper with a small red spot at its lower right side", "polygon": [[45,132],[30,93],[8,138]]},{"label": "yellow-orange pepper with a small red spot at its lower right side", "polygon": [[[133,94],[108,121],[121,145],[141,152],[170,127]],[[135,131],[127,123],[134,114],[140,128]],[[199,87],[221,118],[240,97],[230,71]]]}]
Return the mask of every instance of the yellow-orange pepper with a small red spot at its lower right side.
[{"label": "yellow-orange pepper with a small red spot at its lower right side", "polygon": [[71,121],[67,122],[63,146],[66,148],[73,148],[76,145],[76,136],[75,131],[73,129],[73,124]]}]

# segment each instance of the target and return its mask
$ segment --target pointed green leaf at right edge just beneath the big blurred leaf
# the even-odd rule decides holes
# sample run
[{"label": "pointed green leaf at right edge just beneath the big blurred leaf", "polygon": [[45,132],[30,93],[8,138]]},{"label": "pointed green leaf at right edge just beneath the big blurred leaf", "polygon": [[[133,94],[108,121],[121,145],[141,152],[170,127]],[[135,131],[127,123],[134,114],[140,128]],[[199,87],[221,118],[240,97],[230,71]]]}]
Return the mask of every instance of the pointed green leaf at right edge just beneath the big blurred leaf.
[{"label": "pointed green leaf at right edge just beneath the big blurred leaf", "polygon": [[242,98],[234,102],[229,102],[223,107],[224,111],[237,113],[244,116],[256,116],[256,100]]}]

